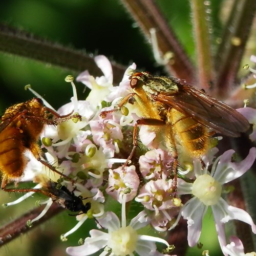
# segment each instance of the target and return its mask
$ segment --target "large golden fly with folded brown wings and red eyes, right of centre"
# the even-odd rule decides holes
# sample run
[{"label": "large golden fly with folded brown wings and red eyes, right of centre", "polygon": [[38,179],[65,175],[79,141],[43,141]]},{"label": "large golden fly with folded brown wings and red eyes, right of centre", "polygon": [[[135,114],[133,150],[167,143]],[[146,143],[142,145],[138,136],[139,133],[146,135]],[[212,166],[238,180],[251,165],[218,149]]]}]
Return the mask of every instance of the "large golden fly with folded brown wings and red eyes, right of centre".
[{"label": "large golden fly with folded brown wings and red eyes, right of centre", "polygon": [[[212,132],[240,137],[250,127],[239,112],[182,79],[135,72],[130,77],[130,86],[131,93],[121,100],[115,110],[133,98],[132,102],[143,119],[136,121],[134,146],[126,164],[137,146],[138,125],[150,125],[157,135],[163,135],[165,145],[175,159],[178,158],[178,145],[185,154],[201,157],[209,148]],[[174,170],[177,164],[175,161]]]}]

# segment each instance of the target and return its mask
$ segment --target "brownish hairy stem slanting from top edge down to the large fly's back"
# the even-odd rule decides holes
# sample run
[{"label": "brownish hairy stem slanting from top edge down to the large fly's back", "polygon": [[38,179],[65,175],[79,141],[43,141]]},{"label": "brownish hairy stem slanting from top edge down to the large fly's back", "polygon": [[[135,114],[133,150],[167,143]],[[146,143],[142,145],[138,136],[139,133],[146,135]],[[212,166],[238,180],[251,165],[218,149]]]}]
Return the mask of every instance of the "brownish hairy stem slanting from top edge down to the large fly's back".
[{"label": "brownish hairy stem slanting from top edge down to the large fly's back", "polygon": [[136,20],[146,38],[150,38],[150,29],[156,29],[159,51],[162,55],[173,52],[174,57],[166,64],[167,70],[177,77],[193,81],[194,67],[155,1],[122,0],[122,2]]}]

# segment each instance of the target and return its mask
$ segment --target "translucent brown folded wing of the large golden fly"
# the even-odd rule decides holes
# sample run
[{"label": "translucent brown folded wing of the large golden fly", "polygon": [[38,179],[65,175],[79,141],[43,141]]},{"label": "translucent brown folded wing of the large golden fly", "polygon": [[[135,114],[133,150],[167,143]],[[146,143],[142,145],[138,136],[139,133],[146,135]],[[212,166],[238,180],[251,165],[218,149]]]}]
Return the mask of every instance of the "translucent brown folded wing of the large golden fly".
[{"label": "translucent brown folded wing of the large golden fly", "polygon": [[229,105],[186,84],[179,84],[177,93],[152,97],[226,136],[239,137],[250,127],[247,119]]}]

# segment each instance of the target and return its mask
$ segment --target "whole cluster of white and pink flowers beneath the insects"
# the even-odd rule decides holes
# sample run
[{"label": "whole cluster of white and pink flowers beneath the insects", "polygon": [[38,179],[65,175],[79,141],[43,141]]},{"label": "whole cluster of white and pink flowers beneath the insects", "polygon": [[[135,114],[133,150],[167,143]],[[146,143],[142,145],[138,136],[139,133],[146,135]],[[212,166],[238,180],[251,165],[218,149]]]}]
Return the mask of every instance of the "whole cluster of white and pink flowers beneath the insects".
[{"label": "whole cluster of white and pink flowers beneath the insects", "polygon": [[[212,209],[225,255],[229,253],[225,223],[240,220],[248,223],[252,232],[256,233],[256,225],[249,214],[229,205],[222,197],[223,185],[239,178],[251,167],[256,149],[252,147],[240,162],[233,161],[233,150],[217,157],[216,147],[211,148],[202,159],[179,155],[177,178],[174,174],[177,159],[159,140],[158,130],[142,125],[139,146],[130,157],[134,126],[141,114],[132,100],[127,100],[122,108],[118,104],[131,93],[129,78],[136,66],[131,65],[119,86],[114,87],[109,60],[97,56],[95,61],[104,76],[94,78],[85,71],[77,77],[77,81],[91,89],[87,99],[78,101],[74,89],[71,102],[58,110],[60,115],[76,112],[82,117],[81,120],[74,122],[70,119],[56,126],[47,125],[42,134],[45,157],[51,166],[63,173],[63,177],[54,173],[54,168],[49,169],[29,156],[31,160],[23,178],[24,181],[34,180],[38,183],[36,188],[45,190],[49,182],[56,187],[66,187],[70,191],[69,196],[82,199],[83,204],[88,206],[77,216],[77,225],[62,235],[62,240],[88,218],[96,218],[99,228],[104,228],[103,231],[91,230],[91,237],[86,238],[83,245],[69,247],[67,252],[70,255],[90,255],[103,249],[100,255],[134,255],[134,252],[139,255],[163,255],[163,252],[157,251],[155,243],[166,245],[165,251],[170,251],[172,246],[158,237],[139,234],[137,230],[151,225],[158,232],[172,232],[181,216],[187,220],[188,245],[194,246],[199,241],[208,206]],[[246,108],[246,111],[255,114],[254,110]],[[240,112],[248,116],[244,110]],[[253,135],[251,138],[254,138]],[[127,159],[130,161],[127,162]],[[26,194],[23,199],[32,193]],[[183,202],[183,195],[190,195],[190,199]],[[121,221],[114,212],[104,209],[105,197],[109,196],[121,204]],[[72,210],[67,202],[65,204],[65,198],[62,199],[62,204]],[[58,197],[50,197],[45,202],[47,206],[38,218],[46,213],[53,200],[58,201]],[[125,214],[129,212],[127,206],[132,202],[143,210],[127,225]],[[31,220],[30,224],[38,218]]]}]

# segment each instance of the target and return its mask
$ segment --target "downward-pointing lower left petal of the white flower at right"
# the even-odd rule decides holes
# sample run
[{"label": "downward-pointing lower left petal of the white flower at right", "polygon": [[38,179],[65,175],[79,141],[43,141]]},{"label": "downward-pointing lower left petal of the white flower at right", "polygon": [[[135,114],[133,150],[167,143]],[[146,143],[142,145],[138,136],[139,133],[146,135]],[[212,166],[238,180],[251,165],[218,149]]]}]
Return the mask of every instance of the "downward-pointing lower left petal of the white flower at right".
[{"label": "downward-pointing lower left petal of the white flower at right", "polygon": [[201,203],[198,198],[191,198],[181,210],[181,215],[187,220],[187,242],[189,246],[195,246],[200,238],[202,220],[207,206]]}]

